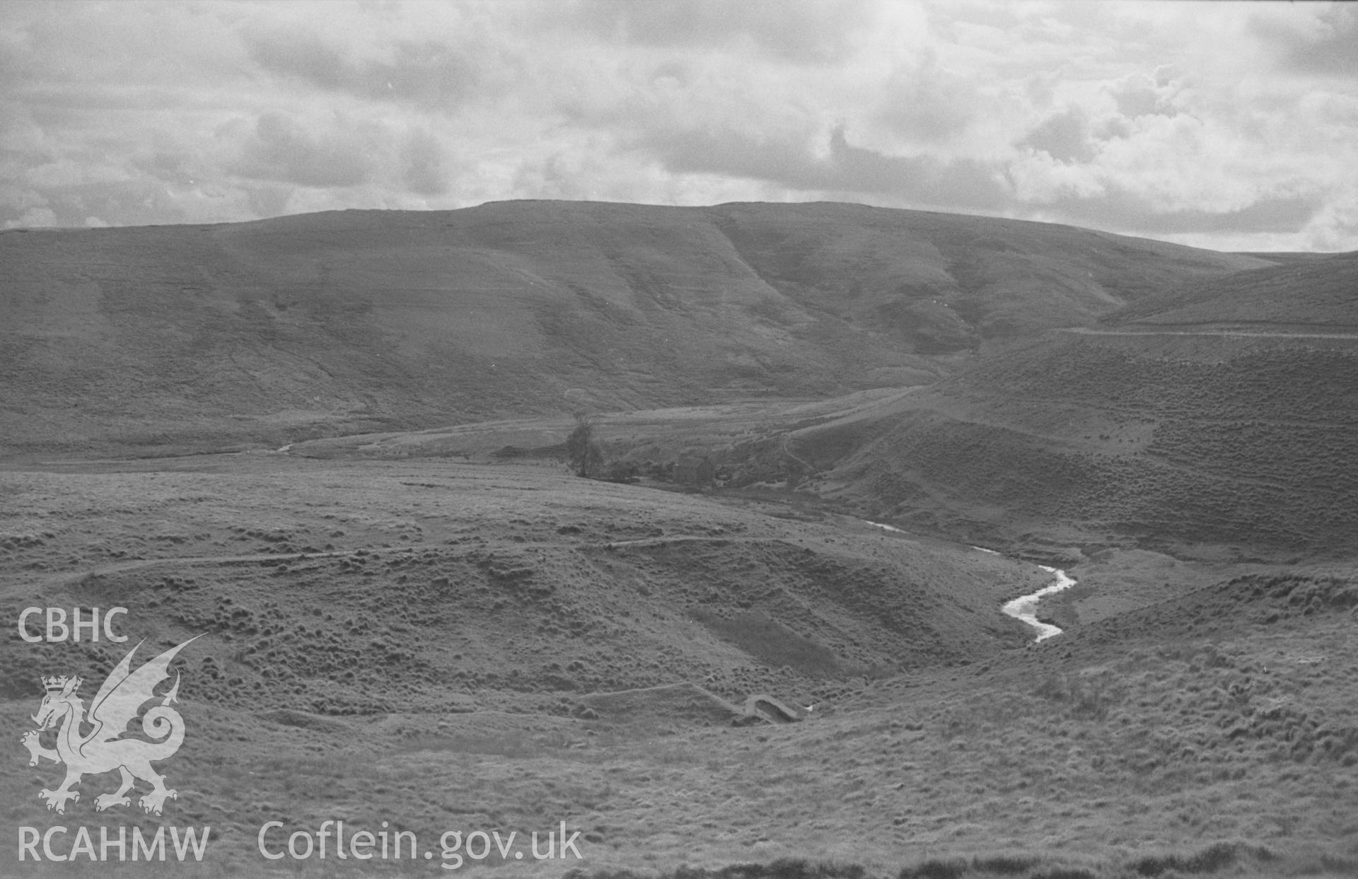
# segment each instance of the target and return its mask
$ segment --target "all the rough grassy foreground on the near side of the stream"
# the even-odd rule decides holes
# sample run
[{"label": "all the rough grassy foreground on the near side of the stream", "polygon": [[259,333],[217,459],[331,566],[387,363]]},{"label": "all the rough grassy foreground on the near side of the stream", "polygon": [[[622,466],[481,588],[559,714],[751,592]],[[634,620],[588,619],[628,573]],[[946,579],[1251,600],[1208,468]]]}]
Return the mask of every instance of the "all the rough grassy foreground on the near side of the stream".
[{"label": "all the rough grassy foreground on the near side of the stream", "polygon": [[[139,656],[206,632],[177,662],[189,735],[162,766],[179,791],[162,818],[95,812],[114,773],[46,812],[35,793],[60,769],[18,746],[0,764],[7,815],[210,825],[204,863],[167,868],[185,875],[426,872],[444,830],[521,845],[561,821],[583,860],[516,869],[808,879],[748,865],[808,859],[843,879],[1127,879],[1358,863],[1351,565],[1198,588],[1169,568],[1164,600],[1024,647],[998,607],[1046,581],[1032,565],[532,465],[247,454],[11,467],[0,489],[18,501],[0,539],[11,618],[122,605],[118,629],[149,639]],[[31,728],[37,675],[92,687],[126,647],[11,634],[7,728]],[[752,693],[815,711],[733,724]],[[266,821],[284,822],[281,845],[337,817],[417,833],[435,863],[258,855]]]}]

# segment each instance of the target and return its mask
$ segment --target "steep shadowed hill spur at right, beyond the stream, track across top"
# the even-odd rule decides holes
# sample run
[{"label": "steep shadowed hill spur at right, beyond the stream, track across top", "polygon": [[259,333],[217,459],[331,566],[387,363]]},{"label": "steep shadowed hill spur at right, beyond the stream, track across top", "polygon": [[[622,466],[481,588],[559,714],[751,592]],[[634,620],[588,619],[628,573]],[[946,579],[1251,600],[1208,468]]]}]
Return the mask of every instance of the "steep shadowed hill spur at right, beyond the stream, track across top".
[{"label": "steep shadowed hill spur at right, beyond the stream, track across top", "polygon": [[838,465],[830,496],[975,539],[1351,550],[1355,266],[1241,273],[1013,345],[902,398],[853,451],[831,423],[799,454],[839,450],[819,461]]}]

